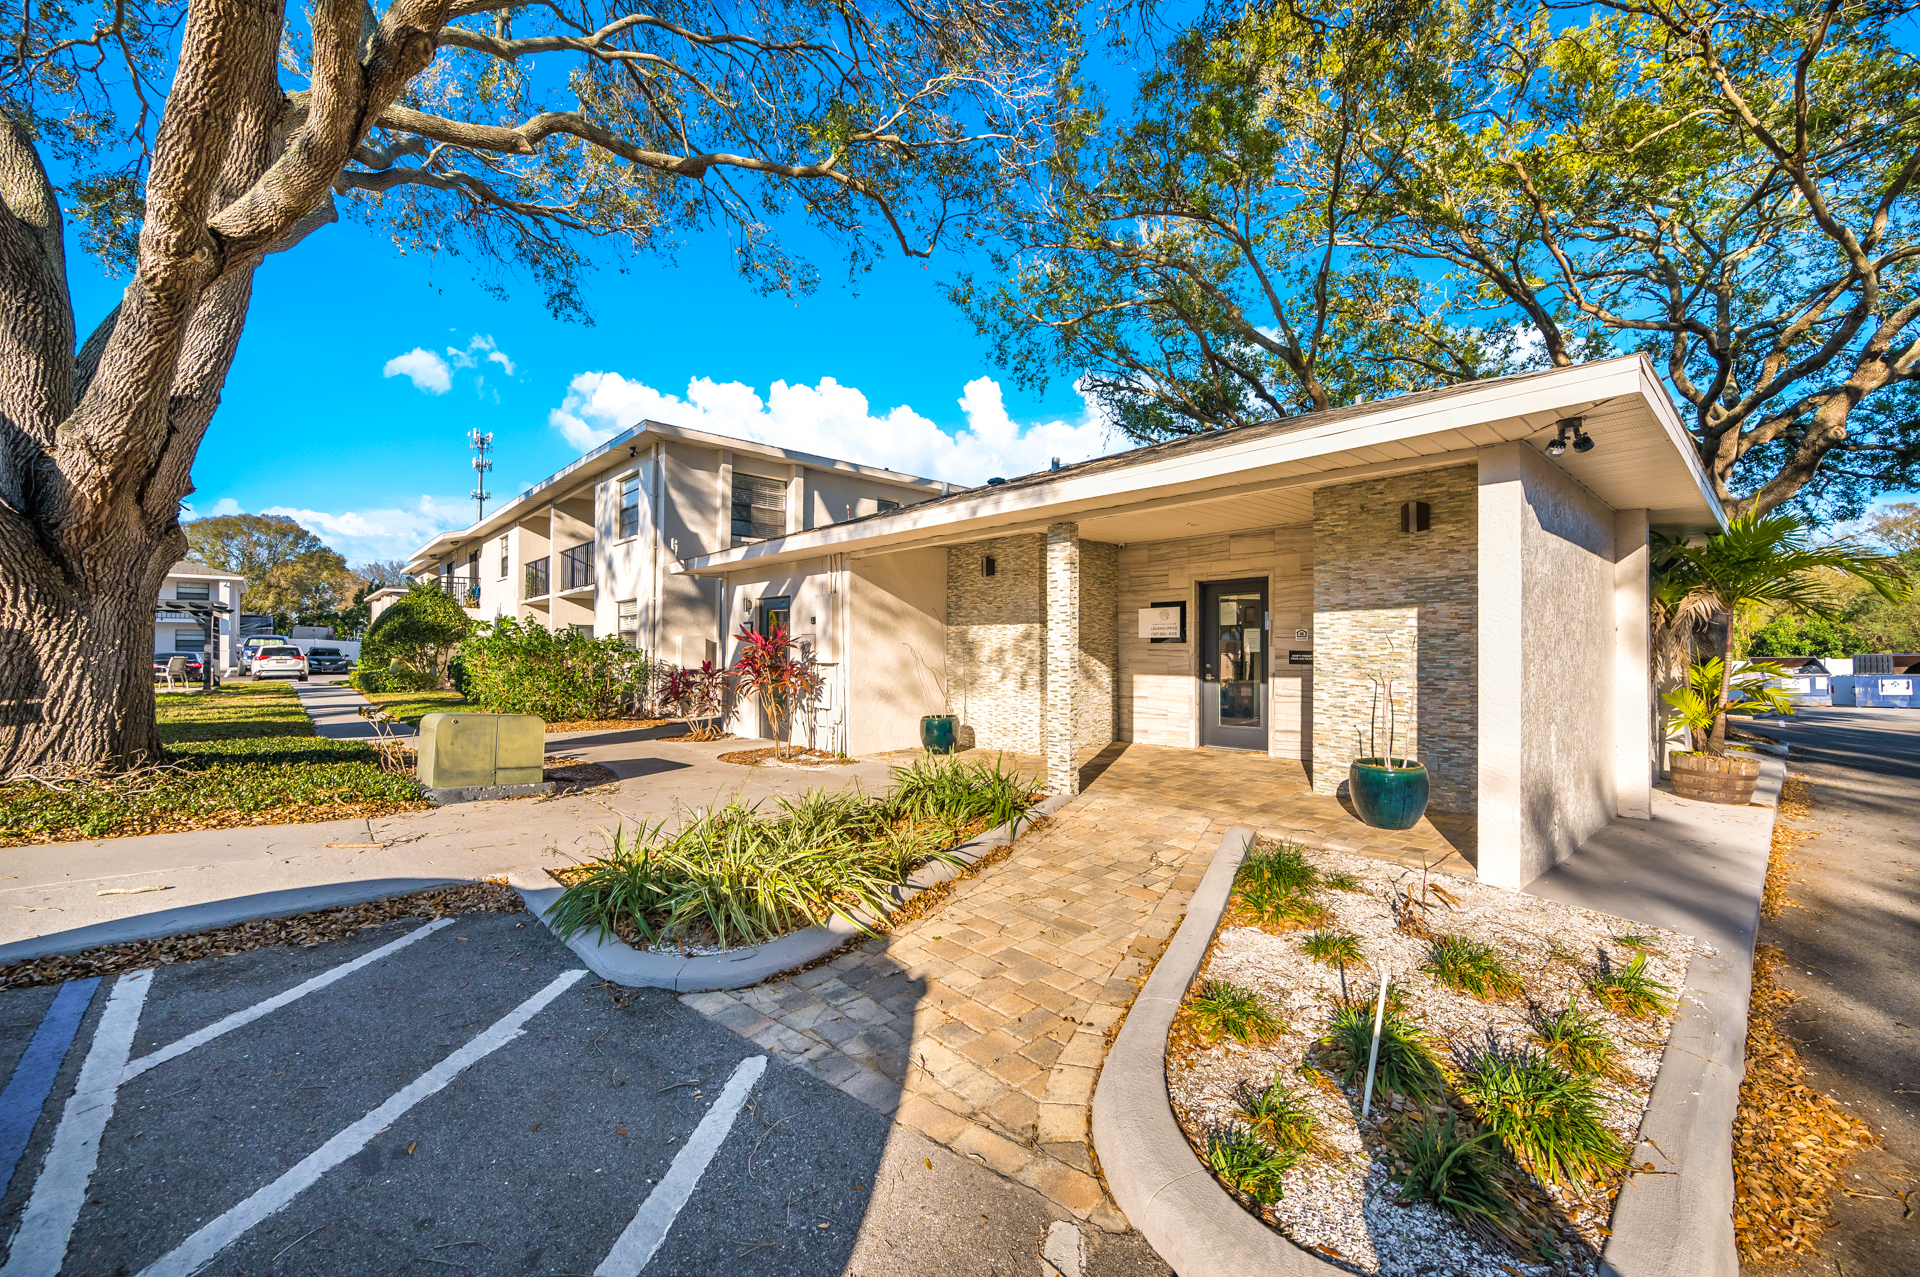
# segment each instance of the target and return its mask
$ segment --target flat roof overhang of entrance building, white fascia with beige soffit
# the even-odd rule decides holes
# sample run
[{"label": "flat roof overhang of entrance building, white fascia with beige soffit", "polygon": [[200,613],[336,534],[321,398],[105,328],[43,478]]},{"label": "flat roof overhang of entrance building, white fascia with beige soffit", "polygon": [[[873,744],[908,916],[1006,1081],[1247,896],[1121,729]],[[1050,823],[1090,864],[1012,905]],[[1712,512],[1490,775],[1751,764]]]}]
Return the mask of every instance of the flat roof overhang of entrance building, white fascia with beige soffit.
[{"label": "flat roof overhang of entrance building, white fascia with beige soffit", "polygon": [[975,488],[876,518],[691,557],[676,563],[674,572],[726,576],[839,553],[868,557],[1020,536],[1043,532],[1052,522],[1077,522],[1087,540],[1173,540],[1212,530],[1204,520],[1173,520],[1173,511],[1200,513],[1229,503],[1260,511],[1258,522],[1240,526],[1306,522],[1313,488],[1469,465],[1486,447],[1507,442],[1544,451],[1555,436],[1553,422],[1563,417],[1584,417],[1597,447],[1569,449],[1553,465],[1603,503],[1645,509],[1653,524],[1686,534],[1724,526],[1692,440],[1642,355],[1517,382],[1469,382],[1446,396],[1382,399],[1377,407],[1344,411],[1327,422],[1304,419],[1296,430],[1261,432],[1244,442],[1225,432],[1229,438],[1212,447],[1175,449],[1164,457],[1144,447],[1137,463],[1091,463],[1083,474],[1069,469],[1046,482]]}]

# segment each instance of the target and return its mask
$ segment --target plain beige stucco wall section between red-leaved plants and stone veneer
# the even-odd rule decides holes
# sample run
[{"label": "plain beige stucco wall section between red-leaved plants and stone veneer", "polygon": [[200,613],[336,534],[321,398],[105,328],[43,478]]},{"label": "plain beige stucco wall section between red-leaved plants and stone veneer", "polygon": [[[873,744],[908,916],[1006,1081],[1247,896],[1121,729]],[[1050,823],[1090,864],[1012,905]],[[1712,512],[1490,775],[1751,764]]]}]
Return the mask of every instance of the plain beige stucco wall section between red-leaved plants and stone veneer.
[{"label": "plain beige stucco wall section between red-leaved plants and stone veneer", "polygon": [[854,559],[847,578],[847,751],[918,749],[920,716],[945,707],[947,551]]}]

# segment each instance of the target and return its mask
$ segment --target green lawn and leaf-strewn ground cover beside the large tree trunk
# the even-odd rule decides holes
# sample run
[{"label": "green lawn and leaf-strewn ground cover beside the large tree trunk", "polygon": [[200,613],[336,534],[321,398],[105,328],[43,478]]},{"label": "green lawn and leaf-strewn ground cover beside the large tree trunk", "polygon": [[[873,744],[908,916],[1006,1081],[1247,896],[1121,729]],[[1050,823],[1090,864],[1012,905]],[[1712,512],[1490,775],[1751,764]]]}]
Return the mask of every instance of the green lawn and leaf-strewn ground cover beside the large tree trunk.
[{"label": "green lawn and leaf-strewn ground cover beside the large tree trunk", "polygon": [[365,741],[328,741],[286,684],[159,693],[167,757],[123,776],[0,783],[0,847],[424,808]]}]

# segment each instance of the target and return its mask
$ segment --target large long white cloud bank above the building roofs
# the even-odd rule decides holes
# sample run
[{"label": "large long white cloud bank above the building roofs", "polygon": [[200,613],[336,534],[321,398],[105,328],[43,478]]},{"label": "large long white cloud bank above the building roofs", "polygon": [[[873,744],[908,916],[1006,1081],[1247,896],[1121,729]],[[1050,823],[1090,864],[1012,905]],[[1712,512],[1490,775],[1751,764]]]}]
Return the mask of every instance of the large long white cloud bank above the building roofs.
[{"label": "large long white cloud bank above the building roofs", "polygon": [[831,376],[818,386],[774,382],[762,398],[753,386],[705,376],[687,382],[685,396],[670,396],[618,373],[580,373],[547,422],[582,451],[653,419],[956,484],[1012,478],[1046,469],[1052,457],[1073,463],[1125,447],[1091,403],[1077,421],[1018,424],[991,376],[968,382],[958,403],[968,424],[947,432],[904,403],[876,415],[864,394]]}]

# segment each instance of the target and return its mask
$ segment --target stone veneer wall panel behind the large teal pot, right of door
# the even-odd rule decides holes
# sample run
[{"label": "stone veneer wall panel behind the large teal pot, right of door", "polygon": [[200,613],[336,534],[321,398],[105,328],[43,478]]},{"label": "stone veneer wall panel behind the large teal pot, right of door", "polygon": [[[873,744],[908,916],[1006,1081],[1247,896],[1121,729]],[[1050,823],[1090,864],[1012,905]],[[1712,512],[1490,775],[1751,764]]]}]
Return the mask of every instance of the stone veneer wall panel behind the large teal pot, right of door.
[{"label": "stone veneer wall panel behind the large teal pot, right of door", "polygon": [[[1400,507],[1432,526],[1402,534]],[[1313,791],[1334,793],[1361,755],[1373,684],[1394,678],[1396,755],[1432,778],[1430,805],[1478,797],[1478,470],[1453,467],[1313,492]],[[1519,653],[1515,653],[1519,657]],[[1519,670],[1507,670],[1519,676]],[[1384,712],[1379,747],[1384,751]]]}]

